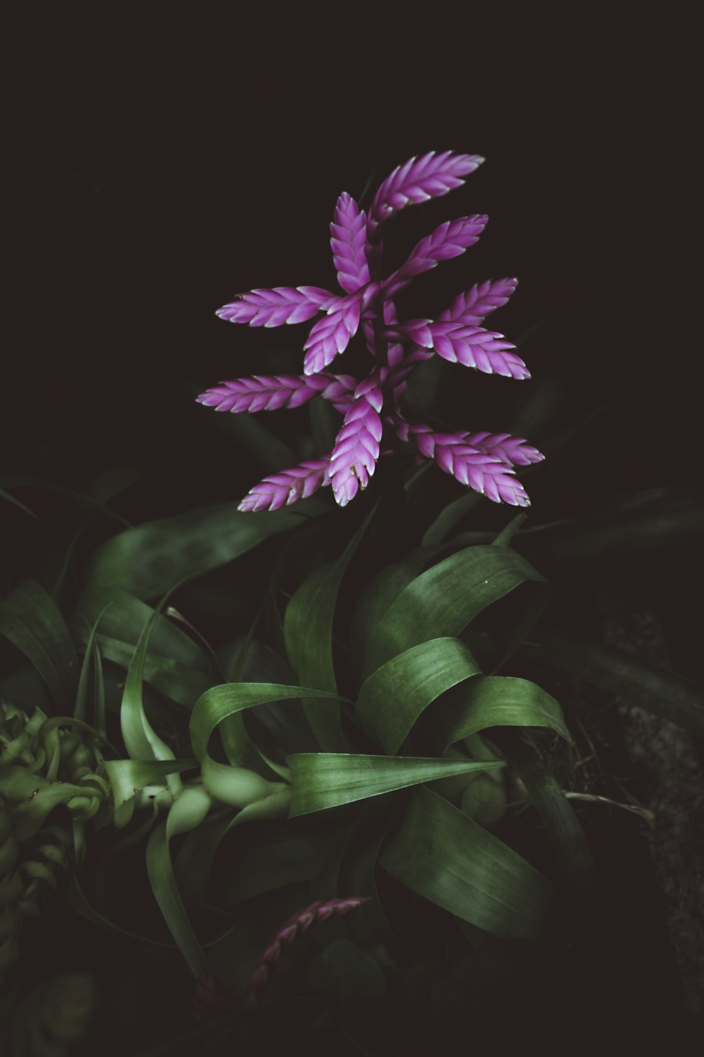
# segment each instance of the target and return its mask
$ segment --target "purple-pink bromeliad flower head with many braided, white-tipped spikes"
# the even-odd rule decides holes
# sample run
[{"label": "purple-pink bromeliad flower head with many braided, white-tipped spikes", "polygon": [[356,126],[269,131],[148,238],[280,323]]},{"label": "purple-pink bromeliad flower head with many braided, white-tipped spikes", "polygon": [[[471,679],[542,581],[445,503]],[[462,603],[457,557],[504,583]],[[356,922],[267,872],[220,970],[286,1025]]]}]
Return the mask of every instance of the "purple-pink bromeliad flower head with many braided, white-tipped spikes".
[{"label": "purple-pink bromeliad flower head with many braided, white-tipped spikes", "polygon": [[[254,375],[206,390],[197,400],[218,411],[271,411],[300,407],[320,395],[343,415],[332,451],[264,478],[240,504],[241,511],[275,511],[332,486],[345,506],[365,488],[377,461],[415,446],[421,462],[434,459],[460,484],[494,502],[528,506],[515,466],[543,459],[521,438],[508,433],[437,432],[410,423],[401,401],[414,368],[437,354],[488,374],[529,378],[515,346],[481,324],[506,304],[517,279],[481,282],[460,294],[437,319],[400,320],[396,296],[440,261],[463,254],[481,235],[488,218],[474,214],[446,221],[414,247],[407,260],[382,277],[384,223],[405,206],[446,194],[481,165],[478,154],[431,151],[398,166],[377,190],[368,216],[346,192],[338,199],[330,224],[332,259],[343,295],[318,286],[251,290],[218,309],[221,319],[250,327],[304,322],[324,312],[303,346],[302,375]],[[365,378],[326,369],[362,331],[373,367]]]}]

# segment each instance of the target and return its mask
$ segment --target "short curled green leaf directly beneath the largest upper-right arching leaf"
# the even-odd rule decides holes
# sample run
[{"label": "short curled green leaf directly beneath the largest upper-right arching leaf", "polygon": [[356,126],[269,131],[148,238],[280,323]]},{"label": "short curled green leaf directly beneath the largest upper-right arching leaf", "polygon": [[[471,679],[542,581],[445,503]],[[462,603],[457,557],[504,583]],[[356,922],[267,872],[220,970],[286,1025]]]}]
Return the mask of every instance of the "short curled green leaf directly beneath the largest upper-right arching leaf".
[{"label": "short curled green leaf directly beneath the largest upper-right arching leaf", "polygon": [[384,750],[398,753],[425,708],[479,667],[458,638],[431,638],[392,657],[366,680],[357,716]]}]

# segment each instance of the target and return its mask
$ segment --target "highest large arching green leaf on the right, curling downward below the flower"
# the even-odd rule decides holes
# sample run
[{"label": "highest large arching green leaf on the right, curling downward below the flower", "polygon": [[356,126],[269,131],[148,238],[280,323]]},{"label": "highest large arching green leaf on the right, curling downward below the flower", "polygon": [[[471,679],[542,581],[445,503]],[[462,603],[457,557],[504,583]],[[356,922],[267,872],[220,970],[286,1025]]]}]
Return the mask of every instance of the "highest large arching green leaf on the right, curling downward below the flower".
[{"label": "highest large arching green leaf on the right, curling downward below the flower", "polygon": [[547,582],[509,548],[470,546],[451,555],[413,580],[382,617],[366,674],[429,638],[458,635],[483,609],[521,585],[530,587],[531,595],[507,656],[545,606]]}]

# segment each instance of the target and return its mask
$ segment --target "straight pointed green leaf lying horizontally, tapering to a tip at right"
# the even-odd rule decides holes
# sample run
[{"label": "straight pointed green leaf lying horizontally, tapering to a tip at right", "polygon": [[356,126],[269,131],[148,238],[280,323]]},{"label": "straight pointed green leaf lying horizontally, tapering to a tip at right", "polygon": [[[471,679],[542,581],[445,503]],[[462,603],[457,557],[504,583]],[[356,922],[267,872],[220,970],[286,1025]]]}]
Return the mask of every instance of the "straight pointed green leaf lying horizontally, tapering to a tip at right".
[{"label": "straight pointed green leaf lying horizontally, tapering to a tip at right", "polygon": [[353,753],[299,753],[289,756],[293,799],[289,817],[338,808],[408,785],[471,774],[496,763],[441,760],[437,757],[362,756]]}]

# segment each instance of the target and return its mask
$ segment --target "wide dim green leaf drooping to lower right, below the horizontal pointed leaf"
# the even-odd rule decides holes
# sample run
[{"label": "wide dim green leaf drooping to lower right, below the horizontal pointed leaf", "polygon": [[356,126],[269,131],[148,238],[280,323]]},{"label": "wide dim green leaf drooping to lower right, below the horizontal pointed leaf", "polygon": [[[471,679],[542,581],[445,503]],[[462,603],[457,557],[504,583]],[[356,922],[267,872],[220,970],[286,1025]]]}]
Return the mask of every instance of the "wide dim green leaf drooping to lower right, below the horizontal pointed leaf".
[{"label": "wide dim green leaf drooping to lower right, below the horizontal pointed leaf", "polygon": [[379,861],[412,891],[494,935],[534,939],[552,897],[552,885],[520,855],[425,787],[413,791]]}]

